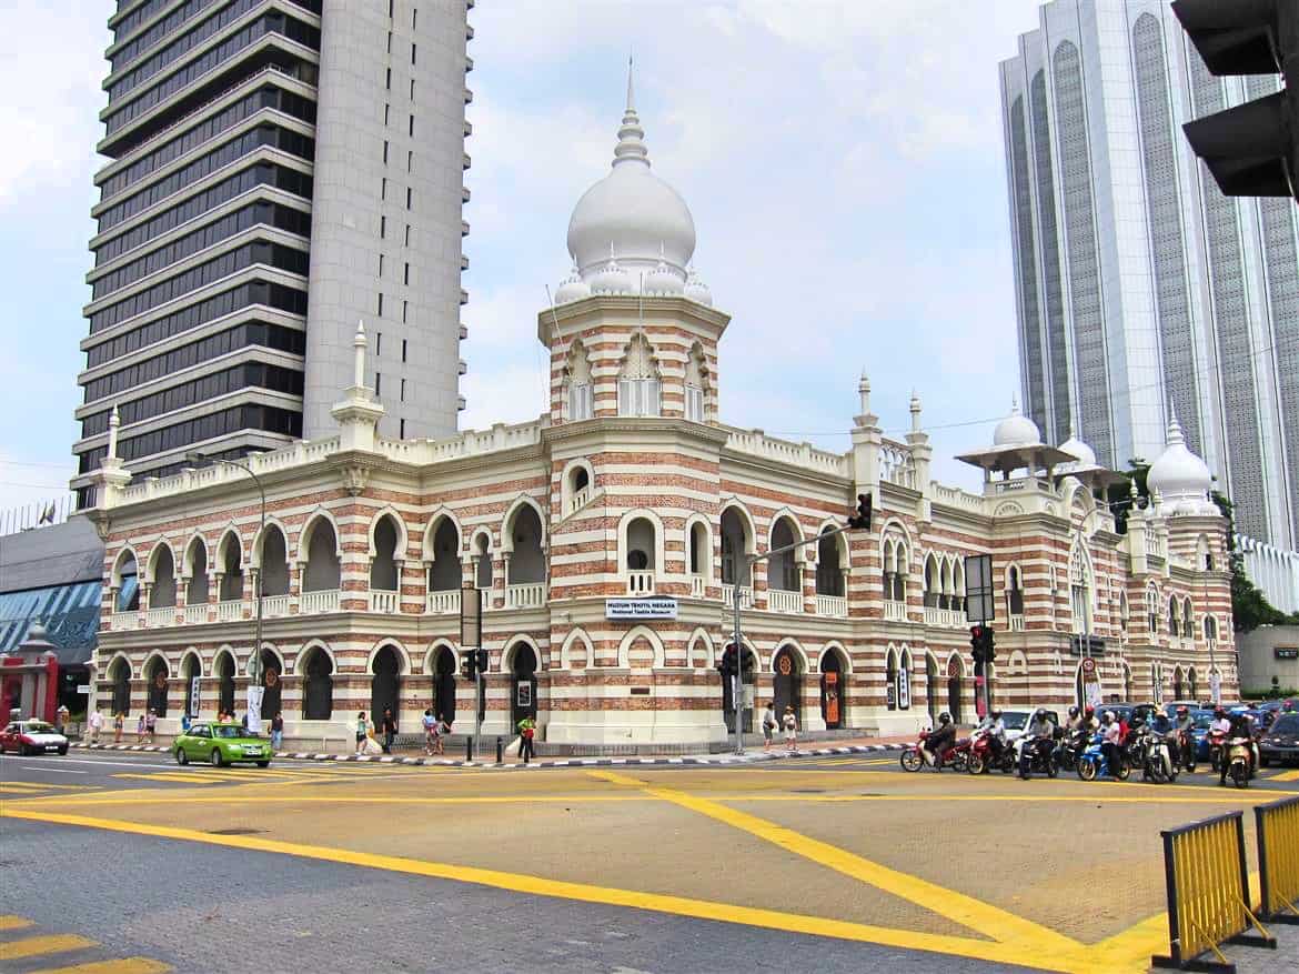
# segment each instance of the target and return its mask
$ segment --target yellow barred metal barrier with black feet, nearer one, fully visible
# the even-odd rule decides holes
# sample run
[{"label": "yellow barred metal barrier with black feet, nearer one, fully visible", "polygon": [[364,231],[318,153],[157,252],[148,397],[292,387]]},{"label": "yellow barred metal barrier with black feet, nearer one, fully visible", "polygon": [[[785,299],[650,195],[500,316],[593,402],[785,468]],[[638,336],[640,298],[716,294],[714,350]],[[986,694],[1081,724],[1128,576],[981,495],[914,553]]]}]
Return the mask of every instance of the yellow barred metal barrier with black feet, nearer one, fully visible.
[{"label": "yellow barred metal barrier with black feet, nearer one, fully visible", "polygon": [[[1168,884],[1169,953],[1151,958],[1156,968],[1234,971],[1235,965],[1226,960],[1218,944],[1277,945],[1250,910],[1241,812],[1169,829],[1160,835],[1164,836]],[[1260,935],[1246,934],[1251,926]],[[1199,960],[1211,951],[1216,962]]]}]

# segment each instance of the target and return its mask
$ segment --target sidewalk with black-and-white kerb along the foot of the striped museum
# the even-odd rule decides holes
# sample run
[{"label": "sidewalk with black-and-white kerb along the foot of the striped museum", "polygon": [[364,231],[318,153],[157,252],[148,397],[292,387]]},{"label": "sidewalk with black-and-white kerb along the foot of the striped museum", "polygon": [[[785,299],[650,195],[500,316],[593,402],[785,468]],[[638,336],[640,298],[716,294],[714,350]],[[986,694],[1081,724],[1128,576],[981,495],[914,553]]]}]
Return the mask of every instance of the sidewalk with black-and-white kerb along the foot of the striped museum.
[{"label": "sidewalk with black-and-white kerb along the foot of the striped museum", "polygon": [[[486,740],[486,739],[485,739]],[[803,747],[794,752],[787,752],[783,743],[773,744],[770,751],[763,751],[761,744],[752,747],[746,744],[743,755],[717,753],[717,755],[673,755],[673,756],[642,756],[642,757],[547,757],[531,764],[521,764],[518,758],[507,757],[498,764],[495,753],[488,753],[483,760],[475,761],[464,758],[425,757],[420,751],[395,755],[352,755],[352,753],[323,753],[312,751],[278,751],[275,757],[281,761],[356,761],[368,764],[395,764],[408,766],[430,768],[607,768],[611,765],[734,765],[759,764],[763,761],[791,761],[805,757],[835,757],[840,755],[877,755],[879,752],[898,752],[905,744],[912,743],[912,738],[850,738],[838,740],[833,745]],[[170,748],[161,744],[86,744],[74,742],[73,748],[83,751],[125,751],[136,753],[169,753]],[[462,747],[462,745],[461,745]],[[491,745],[492,751],[495,744]],[[448,748],[449,751],[451,748]]]}]

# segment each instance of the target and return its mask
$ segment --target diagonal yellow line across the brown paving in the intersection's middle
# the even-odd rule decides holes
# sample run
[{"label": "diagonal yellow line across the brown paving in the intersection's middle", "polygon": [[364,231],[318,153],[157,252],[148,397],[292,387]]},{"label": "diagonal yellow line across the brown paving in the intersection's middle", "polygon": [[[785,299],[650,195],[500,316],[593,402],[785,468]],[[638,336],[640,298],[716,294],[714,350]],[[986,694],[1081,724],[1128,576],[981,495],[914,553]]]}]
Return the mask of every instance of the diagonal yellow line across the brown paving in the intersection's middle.
[{"label": "diagonal yellow line across the brown paving in the intersection's middle", "polygon": [[837,845],[808,838],[792,829],[786,829],[765,818],[751,816],[747,812],[739,812],[717,801],[688,795],[675,788],[647,786],[637,778],[629,778],[622,774],[592,771],[592,777],[603,778],[614,784],[642,788],[648,795],[670,801],[691,812],[698,812],[701,816],[746,831],[750,835],[756,835],[759,839],[769,842],[786,852],[812,860],[818,865],[851,877],[857,882],[873,886],[892,896],[899,896],[917,906],[922,906],[930,913],[937,913],[955,923],[960,923],[963,927],[995,938],[1000,943],[1009,942],[1042,952],[1069,952],[1081,947],[1077,940],[1040,923],[1017,917],[973,896],[966,896],[965,893],[930,883],[908,873],[900,873],[896,869],[872,862]]}]

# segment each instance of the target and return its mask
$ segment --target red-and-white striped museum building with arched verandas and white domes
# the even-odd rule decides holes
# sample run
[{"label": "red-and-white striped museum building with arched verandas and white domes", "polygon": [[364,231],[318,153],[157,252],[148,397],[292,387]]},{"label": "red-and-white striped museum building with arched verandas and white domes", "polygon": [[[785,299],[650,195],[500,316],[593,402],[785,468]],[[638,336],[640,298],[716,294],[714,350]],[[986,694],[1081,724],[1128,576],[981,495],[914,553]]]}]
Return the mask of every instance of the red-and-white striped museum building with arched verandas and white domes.
[{"label": "red-and-white striped museum building with arched verandas and white domes", "polygon": [[[1225,523],[1176,421],[1155,503],[1122,526],[1096,501],[1115,475],[1081,443],[1043,444],[1018,409],[965,457],[978,493],[930,478],[918,399],[911,432],[883,435],[865,377],[846,453],[725,425],[730,319],[627,101],[612,171],[569,225],[573,273],[536,318],[551,390],[534,422],[378,435],[359,329],[333,435],[138,483],[110,443],[91,512],[100,706],[153,708],[164,732],[240,708],[260,579],[262,713],[282,710],[291,742],[338,743],[386,706],[407,731],[425,708],[460,730],[460,600],[477,588],[487,732],[526,713],[549,743],[705,747],[733,719],[716,665],[739,587],[759,703],[807,730],[909,732],[976,714],[964,558],[981,553],[996,703],[1204,696],[1213,666],[1234,692]],[[822,536],[865,492],[870,530]],[[800,539],[817,540],[748,557]]]}]

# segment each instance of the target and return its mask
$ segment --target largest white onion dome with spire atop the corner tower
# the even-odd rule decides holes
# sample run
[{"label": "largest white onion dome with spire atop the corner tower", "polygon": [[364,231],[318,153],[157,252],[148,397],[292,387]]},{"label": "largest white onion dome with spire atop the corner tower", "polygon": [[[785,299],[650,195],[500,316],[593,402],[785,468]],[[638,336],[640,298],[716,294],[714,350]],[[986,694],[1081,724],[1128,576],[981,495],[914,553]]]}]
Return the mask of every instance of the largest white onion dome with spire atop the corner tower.
[{"label": "largest white onion dome with spire atop the corner tower", "polygon": [[644,129],[633,105],[627,75],[627,110],[618,129],[613,169],[587,190],[569,219],[568,248],[582,278],[591,283],[612,247],[630,281],[639,282],[657,268],[660,257],[686,277],[695,253],[695,219],[681,195],[650,171]]}]

